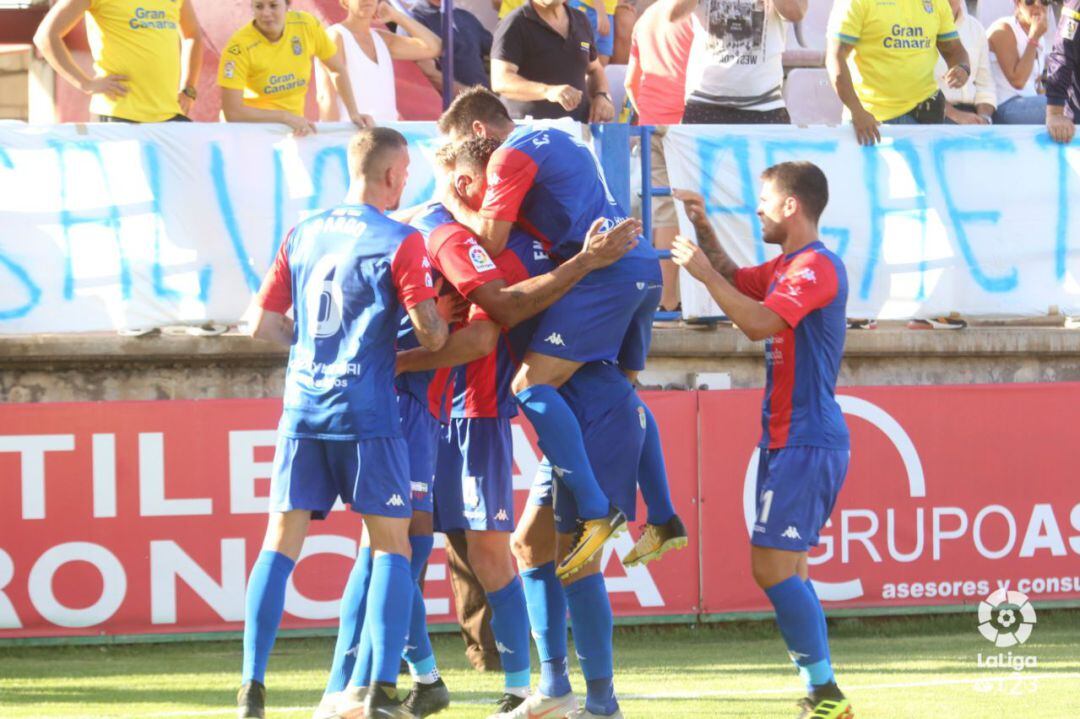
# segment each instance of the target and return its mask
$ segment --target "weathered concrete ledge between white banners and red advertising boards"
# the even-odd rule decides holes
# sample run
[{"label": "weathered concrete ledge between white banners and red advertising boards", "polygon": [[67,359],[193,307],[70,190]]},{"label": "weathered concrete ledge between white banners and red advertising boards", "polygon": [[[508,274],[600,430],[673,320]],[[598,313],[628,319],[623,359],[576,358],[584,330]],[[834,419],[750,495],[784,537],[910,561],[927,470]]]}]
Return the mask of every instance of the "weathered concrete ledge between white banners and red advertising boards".
[{"label": "weathered concrete ledge between white banners and red advertising boards", "polygon": [[[761,345],[730,328],[658,329],[648,386],[764,384]],[[0,338],[0,402],[280,396],[285,353],[246,337]],[[848,333],[840,383],[1080,381],[1080,331],[977,328]]]}]

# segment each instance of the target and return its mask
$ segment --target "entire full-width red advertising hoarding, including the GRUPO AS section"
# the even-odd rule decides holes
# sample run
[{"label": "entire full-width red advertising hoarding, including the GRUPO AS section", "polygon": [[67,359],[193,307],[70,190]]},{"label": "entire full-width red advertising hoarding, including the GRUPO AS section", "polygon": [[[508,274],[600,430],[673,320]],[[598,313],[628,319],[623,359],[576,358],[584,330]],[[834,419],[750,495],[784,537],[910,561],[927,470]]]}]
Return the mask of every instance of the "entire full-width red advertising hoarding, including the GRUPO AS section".
[{"label": "entire full-width red advertising hoarding, including the GRUPO AS section", "polygon": [[[621,616],[768,609],[750,574],[759,391],[653,392],[689,548],[626,571]],[[840,393],[851,466],[811,572],[829,607],[973,603],[1008,583],[1080,599],[1080,384]],[[259,551],[275,401],[6,405],[0,410],[0,638],[238,629]],[[519,503],[539,462],[514,426]],[[638,523],[644,520],[639,508]],[[286,627],[333,626],[360,523],[312,525]],[[453,621],[444,555],[433,622]]]}]

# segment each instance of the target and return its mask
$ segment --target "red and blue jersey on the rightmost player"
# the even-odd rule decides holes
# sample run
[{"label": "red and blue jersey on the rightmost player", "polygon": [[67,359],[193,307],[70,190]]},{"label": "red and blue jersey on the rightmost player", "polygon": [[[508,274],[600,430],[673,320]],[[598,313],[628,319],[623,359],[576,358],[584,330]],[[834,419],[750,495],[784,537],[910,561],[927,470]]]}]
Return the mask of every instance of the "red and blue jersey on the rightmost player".
[{"label": "red and blue jersey on the rightmost player", "polygon": [[819,241],[739,270],[735,286],[787,323],[765,345],[760,446],[847,449],[848,425],[836,402],[847,333],[843,262]]}]

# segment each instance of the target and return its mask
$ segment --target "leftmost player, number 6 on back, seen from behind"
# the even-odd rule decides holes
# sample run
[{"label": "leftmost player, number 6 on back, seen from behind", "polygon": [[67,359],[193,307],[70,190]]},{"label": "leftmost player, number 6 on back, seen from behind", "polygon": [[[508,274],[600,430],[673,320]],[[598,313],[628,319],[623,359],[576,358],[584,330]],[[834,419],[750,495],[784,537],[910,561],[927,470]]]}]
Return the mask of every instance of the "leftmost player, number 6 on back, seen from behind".
[{"label": "leftmost player, number 6 on back, seen from behind", "polygon": [[[405,138],[376,127],[349,144],[346,204],[294,228],[255,298],[255,337],[289,344],[266,540],[247,583],[240,717],[265,716],[267,660],[285,584],[312,518],[340,498],[364,515],[375,554],[365,623],[374,681],[368,719],[405,719],[397,668],[413,607],[407,449],[393,391],[402,308],[421,343],[441,348],[447,326],[423,241],[388,218],[408,173]],[[285,312],[292,307],[295,322]]]}]

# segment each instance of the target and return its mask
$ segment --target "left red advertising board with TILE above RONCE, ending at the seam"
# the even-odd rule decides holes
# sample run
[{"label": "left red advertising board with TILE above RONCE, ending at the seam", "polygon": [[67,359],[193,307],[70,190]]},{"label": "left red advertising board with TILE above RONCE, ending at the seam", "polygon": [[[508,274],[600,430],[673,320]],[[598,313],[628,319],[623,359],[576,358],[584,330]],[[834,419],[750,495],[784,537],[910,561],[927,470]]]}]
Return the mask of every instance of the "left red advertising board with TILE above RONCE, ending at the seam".
[{"label": "left red advertising board with TILE above RONCE, ending at the seam", "polygon": [[[672,490],[697,491],[697,396],[646,399],[672,448]],[[8,405],[0,411],[0,637],[212,632],[242,626],[247,572],[266,527],[278,401]],[[514,426],[525,500],[540,460]],[[697,535],[697,517],[688,512]],[[644,515],[642,516],[644,520]],[[333,626],[360,537],[341,510],[314,523],[289,583],[285,627]],[[649,568],[605,557],[620,615],[691,614],[697,541]],[[451,622],[445,556],[429,565],[432,622]]]}]

